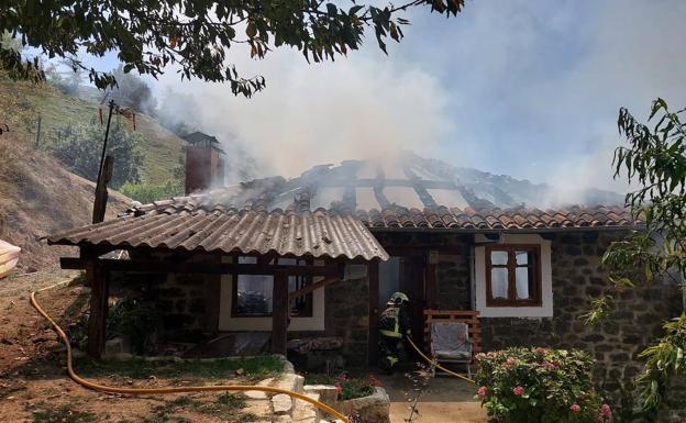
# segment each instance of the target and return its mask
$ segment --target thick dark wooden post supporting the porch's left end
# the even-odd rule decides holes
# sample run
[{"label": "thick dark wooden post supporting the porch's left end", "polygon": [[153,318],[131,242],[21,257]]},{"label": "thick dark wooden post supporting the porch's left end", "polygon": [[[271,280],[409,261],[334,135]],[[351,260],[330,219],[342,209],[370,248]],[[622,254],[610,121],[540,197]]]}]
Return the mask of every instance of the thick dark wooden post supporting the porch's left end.
[{"label": "thick dark wooden post supporting the porch's left end", "polygon": [[88,318],[88,355],[100,358],[104,350],[104,329],[108,315],[109,278],[96,258],[86,267],[86,279],[90,281],[90,316]]}]

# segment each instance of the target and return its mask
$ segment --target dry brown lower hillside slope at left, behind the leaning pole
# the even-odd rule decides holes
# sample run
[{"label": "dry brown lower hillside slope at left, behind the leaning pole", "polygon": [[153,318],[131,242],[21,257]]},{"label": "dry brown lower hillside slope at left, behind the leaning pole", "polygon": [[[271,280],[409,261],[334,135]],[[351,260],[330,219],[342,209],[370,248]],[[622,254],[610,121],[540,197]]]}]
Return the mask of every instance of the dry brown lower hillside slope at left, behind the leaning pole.
[{"label": "dry brown lower hillside slope at left, behind the leaning pole", "polygon": [[[70,247],[47,246],[41,237],[91,221],[95,185],[66,171],[13,134],[0,135],[0,238],[22,248],[19,272],[56,268]],[[110,190],[112,219],[131,200]]]}]

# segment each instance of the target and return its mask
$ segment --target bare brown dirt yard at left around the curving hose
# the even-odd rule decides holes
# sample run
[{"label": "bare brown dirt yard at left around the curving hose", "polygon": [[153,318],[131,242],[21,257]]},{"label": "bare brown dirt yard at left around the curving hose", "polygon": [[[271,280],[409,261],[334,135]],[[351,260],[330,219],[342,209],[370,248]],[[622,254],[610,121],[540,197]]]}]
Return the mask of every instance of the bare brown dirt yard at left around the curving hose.
[{"label": "bare brown dirt yard at left around the curving hose", "polygon": [[[69,280],[74,276],[75,272],[56,271],[0,280],[0,421],[185,423],[261,422],[268,418],[264,415],[262,405],[242,394],[122,397],[87,390],[68,379],[64,347],[29,304],[29,291]],[[86,288],[65,286],[40,294],[38,301],[51,315],[58,318],[60,324],[66,325],[86,307],[87,298]],[[143,372],[147,370],[142,369]],[[151,368],[150,372],[158,374],[156,370]],[[182,374],[163,378],[141,375],[136,369],[134,376],[122,377],[121,374],[112,371],[108,375],[107,371],[96,369],[96,376],[90,378],[103,385],[124,387],[202,383]],[[210,382],[255,382],[247,380],[247,375],[237,376],[240,374],[232,371],[230,377],[221,375],[220,379]]]}]

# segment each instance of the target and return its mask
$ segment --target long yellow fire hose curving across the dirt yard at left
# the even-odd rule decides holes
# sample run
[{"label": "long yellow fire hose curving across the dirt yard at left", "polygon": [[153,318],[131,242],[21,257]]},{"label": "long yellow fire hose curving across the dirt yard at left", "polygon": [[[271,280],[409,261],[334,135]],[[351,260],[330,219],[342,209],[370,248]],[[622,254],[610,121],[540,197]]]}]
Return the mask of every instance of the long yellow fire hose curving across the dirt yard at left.
[{"label": "long yellow fire hose curving across the dirt yard at left", "polygon": [[43,316],[45,318],[45,320],[47,320],[49,322],[49,324],[53,326],[53,329],[55,330],[55,332],[57,332],[57,335],[59,335],[59,337],[62,338],[62,342],[64,342],[64,344],[67,347],[67,372],[69,374],[69,377],[77,382],[78,385],[82,386],[84,388],[88,388],[88,389],[92,389],[96,391],[100,391],[100,392],[108,392],[108,393],[123,393],[123,394],[131,394],[131,396],[141,396],[141,394],[151,394],[151,393],[179,393],[179,392],[208,392],[208,391],[263,391],[263,392],[272,392],[272,393],[285,393],[289,397],[292,398],[297,398],[299,400],[309,402],[310,404],[317,407],[318,409],[320,409],[321,411],[324,411],[333,416],[335,416],[336,419],[343,421],[344,423],[348,423],[348,420],[345,415],[339,413],[338,411],[335,411],[334,409],[332,409],[331,407],[321,403],[319,401],[316,401],[302,393],[298,393],[298,392],[294,392],[294,391],[289,391],[287,389],[281,389],[281,388],[274,388],[274,387],[252,387],[252,386],[244,386],[244,385],[215,385],[215,386],[206,386],[206,387],[182,387],[182,388],[118,388],[118,387],[106,387],[102,385],[98,385],[98,383],[93,383],[90,382],[84,378],[81,378],[80,376],[78,376],[75,371],[74,368],[71,367],[71,345],[69,344],[69,338],[67,337],[67,334],[62,330],[62,327],[59,327],[59,325],[41,308],[41,305],[38,305],[38,302],[35,299],[35,294],[36,292],[41,292],[41,291],[45,291],[55,287],[58,287],[60,285],[65,285],[68,283],[69,281],[64,281],[64,282],[59,282],[59,283],[55,283],[49,287],[40,289],[37,291],[33,291],[31,292],[31,305]]}]

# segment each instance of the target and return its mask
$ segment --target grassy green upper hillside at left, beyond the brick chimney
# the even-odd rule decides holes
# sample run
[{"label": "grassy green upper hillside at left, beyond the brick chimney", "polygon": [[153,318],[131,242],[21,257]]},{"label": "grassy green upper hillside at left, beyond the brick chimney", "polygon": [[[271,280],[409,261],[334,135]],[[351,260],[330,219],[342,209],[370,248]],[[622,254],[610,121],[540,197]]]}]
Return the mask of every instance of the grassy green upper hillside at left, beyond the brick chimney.
[{"label": "grassy green upper hillside at left, beyond the brick chimney", "polygon": [[[64,125],[98,119],[99,103],[89,100],[92,96],[78,98],[48,84],[18,82],[0,75],[0,92],[4,93],[0,96],[0,123],[7,123],[16,138],[27,143],[35,143],[38,115],[42,118],[41,143],[48,142],[49,134]],[[107,107],[102,108],[102,112],[107,115]],[[123,118],[113,118],[113,122],[131,125]],[[181,157],[185,142],[145,114],[136,114],[136,131],[144,138],[141,145],[144,154],[143,180],[162,183],[172,179],[172,169]],[[100,145],[102,141],[95,142]]]}]

